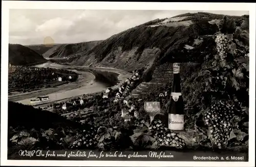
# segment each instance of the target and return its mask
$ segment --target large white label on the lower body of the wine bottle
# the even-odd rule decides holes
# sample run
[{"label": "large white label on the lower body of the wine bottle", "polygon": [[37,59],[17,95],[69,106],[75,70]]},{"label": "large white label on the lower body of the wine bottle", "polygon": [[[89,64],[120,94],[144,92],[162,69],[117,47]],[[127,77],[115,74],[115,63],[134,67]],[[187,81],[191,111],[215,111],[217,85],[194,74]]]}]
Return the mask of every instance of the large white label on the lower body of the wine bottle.
[{"label": "large white label on the lower body of the wine bottle", "polygon": [[184,129],[184,115],[169,114],[168,115],[168,129],[183,130]]}]

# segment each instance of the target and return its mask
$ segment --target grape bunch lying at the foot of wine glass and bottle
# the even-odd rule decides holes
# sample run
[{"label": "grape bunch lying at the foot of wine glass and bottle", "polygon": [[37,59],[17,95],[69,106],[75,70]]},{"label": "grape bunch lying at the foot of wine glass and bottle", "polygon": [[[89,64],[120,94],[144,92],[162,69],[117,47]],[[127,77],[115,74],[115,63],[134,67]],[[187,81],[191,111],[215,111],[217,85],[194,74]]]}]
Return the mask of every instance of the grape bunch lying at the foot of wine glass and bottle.
[{"label": "grape bunch lying at the foot of wine glass and bottle", "polygon": [[153,120],[148,130],[152,131],[161,146],[176,147],[182,149],[186,146],[185,141],[177,136],[175,132],[164,127],[161,120]]}]

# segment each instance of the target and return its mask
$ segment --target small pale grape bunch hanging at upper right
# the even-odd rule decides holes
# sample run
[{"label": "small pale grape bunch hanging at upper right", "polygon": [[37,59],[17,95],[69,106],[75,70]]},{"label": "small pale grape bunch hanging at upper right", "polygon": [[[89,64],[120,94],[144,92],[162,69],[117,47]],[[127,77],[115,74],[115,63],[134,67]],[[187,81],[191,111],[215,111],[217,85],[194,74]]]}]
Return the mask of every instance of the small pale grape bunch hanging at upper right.
[{"label": "small pale grape bunch hanging at upper right", "polygon": [[224,34],[217,35],[215,42],[217,44],[217,49],[220,55],[221,60],[224,60],[227,57],[227,50],[228,50],[228,39],[227,36]]}]

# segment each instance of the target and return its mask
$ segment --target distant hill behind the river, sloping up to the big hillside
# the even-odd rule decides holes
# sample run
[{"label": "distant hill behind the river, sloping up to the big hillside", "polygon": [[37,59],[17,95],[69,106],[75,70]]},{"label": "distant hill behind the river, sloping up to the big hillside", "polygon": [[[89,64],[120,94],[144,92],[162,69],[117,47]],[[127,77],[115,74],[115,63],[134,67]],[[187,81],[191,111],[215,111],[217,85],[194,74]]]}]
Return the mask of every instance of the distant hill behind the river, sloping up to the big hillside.
[{"label": "distant hill behind the river, sloping up to the big hillside", "polygon": [[90,41],[90,42],[81,42],[74,44],[60,44],[56,45],[42,55],[44,58],[66,58],[66,57],[76,57],[82,51],[88,51],[94,46],[96,46],[101,41]]}]

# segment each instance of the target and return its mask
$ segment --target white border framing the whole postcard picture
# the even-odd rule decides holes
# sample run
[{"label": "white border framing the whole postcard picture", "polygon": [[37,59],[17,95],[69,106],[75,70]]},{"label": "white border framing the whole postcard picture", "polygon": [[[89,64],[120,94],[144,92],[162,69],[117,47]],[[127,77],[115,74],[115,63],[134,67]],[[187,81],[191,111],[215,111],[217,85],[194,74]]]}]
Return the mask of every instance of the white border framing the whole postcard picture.
[{"label": "white border framing the whole postcard picture", "polygon": [[[250,23],[250,96],[249,162],[177,161],[68,161],[7,160],[8,39],[9,9],[109,9],[109,10],[232,10],[249,11]],[[255,166],[255,9],[254,3],[136,3],[136,2],[26,2],[2,1],[1,70],[1,165],[44,166]]]}]

